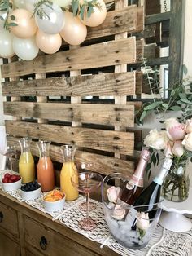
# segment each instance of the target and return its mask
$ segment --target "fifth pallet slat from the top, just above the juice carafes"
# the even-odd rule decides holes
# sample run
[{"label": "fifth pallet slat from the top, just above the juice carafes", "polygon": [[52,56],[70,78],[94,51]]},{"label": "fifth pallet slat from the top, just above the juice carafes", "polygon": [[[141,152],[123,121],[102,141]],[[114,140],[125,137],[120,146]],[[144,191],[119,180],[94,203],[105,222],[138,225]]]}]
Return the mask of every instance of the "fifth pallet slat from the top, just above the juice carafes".
[{"label": "fifth pallet slat from the top, just above the juice carafes", "polygon": [[25,121],[5,121],[9,135],[46,139],[55,143],[75,143],[77,147],[133,155],[134,134],[81,127],[55,126]]}]

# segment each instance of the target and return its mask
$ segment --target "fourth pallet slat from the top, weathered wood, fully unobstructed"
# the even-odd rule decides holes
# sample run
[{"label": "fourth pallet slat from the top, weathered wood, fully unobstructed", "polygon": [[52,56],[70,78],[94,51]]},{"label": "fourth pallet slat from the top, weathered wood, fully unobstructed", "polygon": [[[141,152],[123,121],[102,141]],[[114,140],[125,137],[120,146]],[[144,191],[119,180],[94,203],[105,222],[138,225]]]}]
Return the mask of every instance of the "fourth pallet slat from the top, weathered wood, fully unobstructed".
[{"label": "fourth pallet slat from the top, weathered wood, fully unobstructed", "polygon": [[133,105],[4,102],[4,113],[14,117],[59,119],[107,126],[134,126]]}]

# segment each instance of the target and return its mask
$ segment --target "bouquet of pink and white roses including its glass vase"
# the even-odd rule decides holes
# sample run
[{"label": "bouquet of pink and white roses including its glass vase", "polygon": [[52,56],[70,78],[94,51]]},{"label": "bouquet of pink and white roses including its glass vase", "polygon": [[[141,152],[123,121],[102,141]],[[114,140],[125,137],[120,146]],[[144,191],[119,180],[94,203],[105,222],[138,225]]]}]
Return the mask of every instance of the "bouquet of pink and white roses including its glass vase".
[{"label": "bouquet of pink and white roses including its glass vase", "polygon": [[159,151],[173,160],[172,168],[163,183],[162,196],[170,201],[185,201],[189,192],[186,163],[192,157],[192,119],[180,123],[172,117],[166,119],[164,125],[165,130],[151,130],[144,144],[151,148],[151,162],[154,166],[159,163]]}]

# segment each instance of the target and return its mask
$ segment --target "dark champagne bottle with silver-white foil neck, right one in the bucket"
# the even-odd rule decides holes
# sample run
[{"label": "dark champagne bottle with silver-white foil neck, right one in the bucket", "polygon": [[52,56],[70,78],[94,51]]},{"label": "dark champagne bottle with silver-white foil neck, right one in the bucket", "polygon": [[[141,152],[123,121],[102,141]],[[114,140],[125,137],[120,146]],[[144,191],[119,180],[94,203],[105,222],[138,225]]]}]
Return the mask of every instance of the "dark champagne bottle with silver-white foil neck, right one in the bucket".
[{"label": "dark champagne bottle with silver-white foil neck, right one in the bucket", "polygon": [[149,218],[154,218],[156,213],[156,208],[158,207],[160,200],[160,190],[161,185],[164,181],[165,176],[168,174],[168,170],[172,166],[172,159],[165,158],[164,164],[159,172],[159,174],[153,179],[151,184],[146,187],[142,193],[137,197],[136,201],[133,203],[133,206],[146,205],[136,208],[137,211],[143,211],[149,213]]}]

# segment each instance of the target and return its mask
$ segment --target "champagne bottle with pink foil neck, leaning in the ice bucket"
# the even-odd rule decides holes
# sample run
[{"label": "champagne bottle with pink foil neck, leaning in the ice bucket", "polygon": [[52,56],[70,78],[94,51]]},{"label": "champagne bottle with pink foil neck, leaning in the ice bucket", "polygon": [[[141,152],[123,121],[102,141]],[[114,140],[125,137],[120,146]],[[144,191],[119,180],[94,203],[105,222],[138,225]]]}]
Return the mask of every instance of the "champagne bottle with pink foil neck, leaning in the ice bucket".
[{"label": "champagne bottle with pink foil neck, leaning in the ice bucket", "polygon": [[133,176],[124,184],[122,188],[120,201],[133,205],[133,202],[136,200],[137,196],[141,194],[143,189],[143,174],[149,157],[150,152],[147,149],[142,150]]}]

